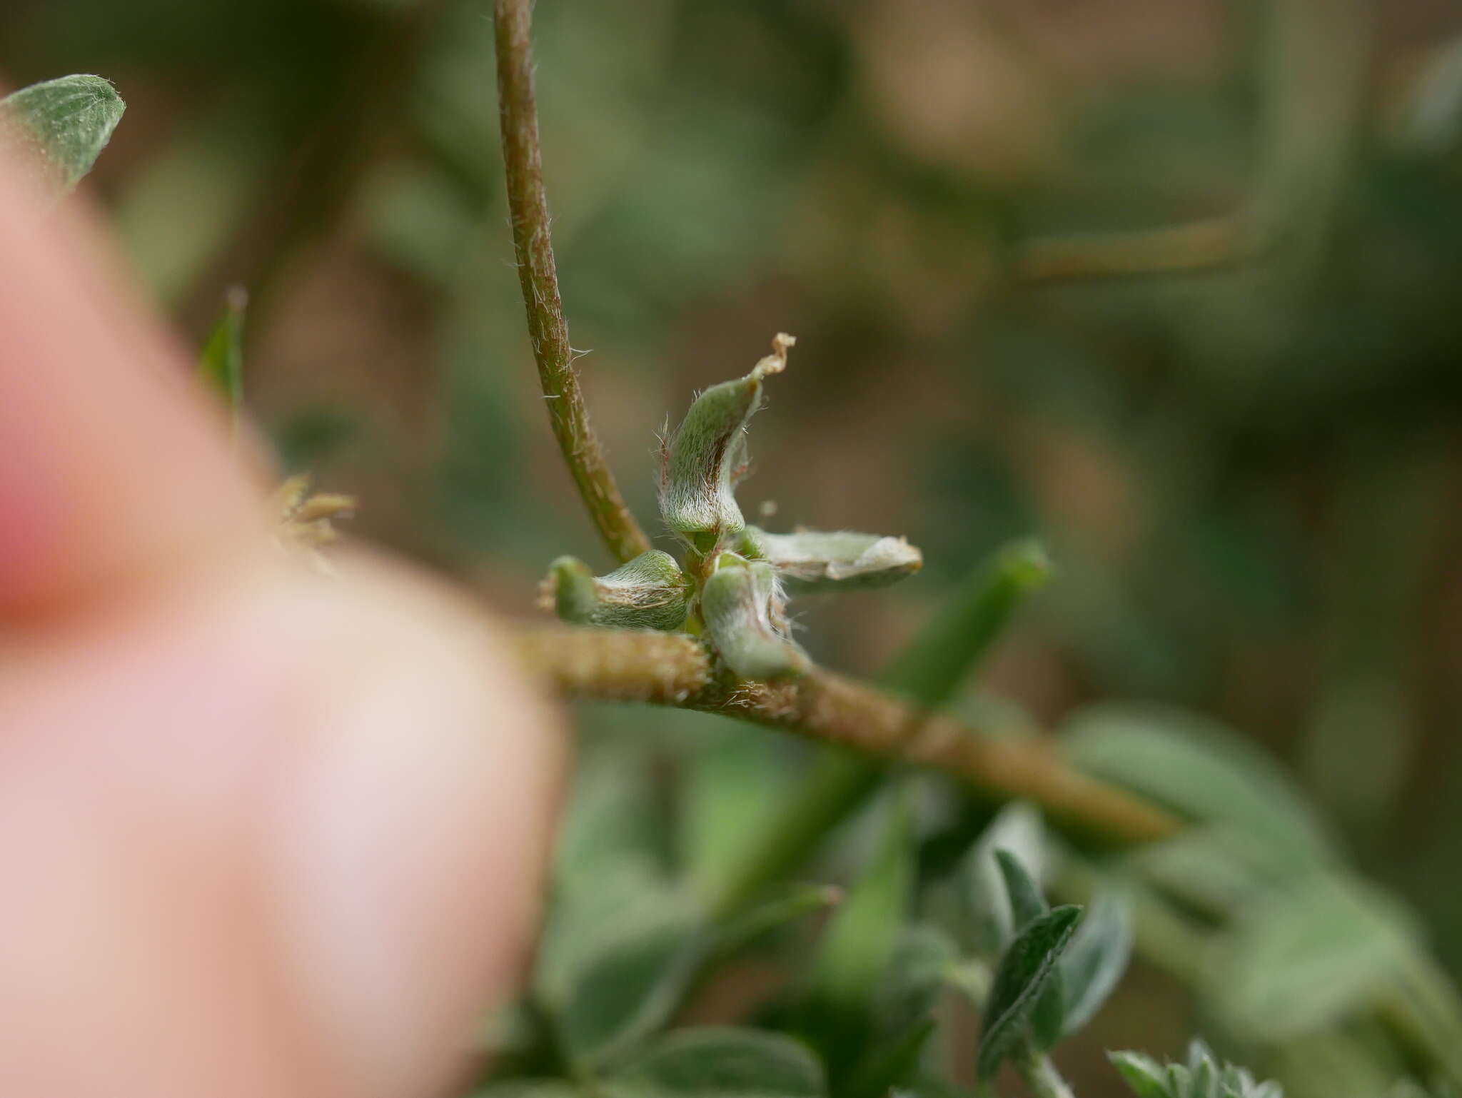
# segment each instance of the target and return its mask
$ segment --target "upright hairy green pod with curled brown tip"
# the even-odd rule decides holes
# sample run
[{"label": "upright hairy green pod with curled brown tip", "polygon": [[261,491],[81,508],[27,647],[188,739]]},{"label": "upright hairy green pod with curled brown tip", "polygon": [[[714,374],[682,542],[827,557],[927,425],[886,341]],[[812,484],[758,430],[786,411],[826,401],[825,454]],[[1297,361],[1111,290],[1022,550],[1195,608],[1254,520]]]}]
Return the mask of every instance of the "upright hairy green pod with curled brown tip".
[{"label": "upright hairy green pod with curled brown tip", "polygon": [[746,528],[735,501],[747,465],[746,425],[762,406],[762,379],[787,368],[787,348],[794,342],[778,335],[773,354],[751,373],[700,393],[665,443],[659,513],[671,532],[699,553],[712,553],[724,537]]}]

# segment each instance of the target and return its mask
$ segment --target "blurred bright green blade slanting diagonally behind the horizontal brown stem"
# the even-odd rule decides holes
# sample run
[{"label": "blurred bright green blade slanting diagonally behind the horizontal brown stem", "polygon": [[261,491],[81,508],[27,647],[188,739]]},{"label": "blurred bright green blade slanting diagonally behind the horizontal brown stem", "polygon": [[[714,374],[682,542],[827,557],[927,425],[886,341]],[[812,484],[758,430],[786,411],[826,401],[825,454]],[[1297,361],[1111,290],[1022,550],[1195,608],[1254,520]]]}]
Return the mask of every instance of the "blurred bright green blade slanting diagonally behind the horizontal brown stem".
[{"label": "blurred bright green blade slanting diagonally behind the horizontal brown stem", "polygon": [[[1050,575],[1039,545],[1020,541],[981,564],[950,597],[947,607],[880,677],[890,692],[933,709],[953,696],[984,656],[1026,595]],[[915,716],[904,731],[918,735]],[[712,898],[712,911],[728,917],[770,882],[804,863],[826,835],[848,819],[879,788],[885,768],[846,751],[823,753],[798,792],[782,801],[765,825],[738,871]]]}]

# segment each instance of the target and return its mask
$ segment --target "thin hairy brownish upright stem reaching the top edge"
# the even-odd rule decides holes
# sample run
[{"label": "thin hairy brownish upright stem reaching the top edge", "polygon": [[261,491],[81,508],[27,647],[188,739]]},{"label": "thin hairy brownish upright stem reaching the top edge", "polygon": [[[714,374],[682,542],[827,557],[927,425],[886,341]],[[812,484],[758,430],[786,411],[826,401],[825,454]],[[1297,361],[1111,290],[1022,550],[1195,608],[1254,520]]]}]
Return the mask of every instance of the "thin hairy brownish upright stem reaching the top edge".
[{"label": "thin hairy brownish upright stem reaching the top edge", "polygon": [[497,96],[507,168],[507,208],[513,222],[518,276],[528,310],[528,338],[538,363],[538,380],[548,421],[563,459],[579,487],[589,518],[618,561],[649,548],[649,538],[624,504],[604,449],[589,423],[589,411],[573,368],[569,326],[563,319],[558,273],[553,259],[548,199],[544,193],[538,110],[534,105],[532,0],[497,0]]}]

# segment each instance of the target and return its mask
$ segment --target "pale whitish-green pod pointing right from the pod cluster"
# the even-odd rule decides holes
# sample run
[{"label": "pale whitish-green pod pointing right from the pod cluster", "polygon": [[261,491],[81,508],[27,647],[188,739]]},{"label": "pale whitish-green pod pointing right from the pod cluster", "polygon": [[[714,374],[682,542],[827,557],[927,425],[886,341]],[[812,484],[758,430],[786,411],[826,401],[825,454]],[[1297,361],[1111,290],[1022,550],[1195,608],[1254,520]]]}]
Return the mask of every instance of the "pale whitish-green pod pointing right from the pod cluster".
[{"label": "pale whitish-green pod pointing right from the pod cluster", "polygon": [[747,526],[738,545],[747,556],[770,561],[789,595],[886,588],[924,567],[914,545],[877,534],[768,534]]}]

